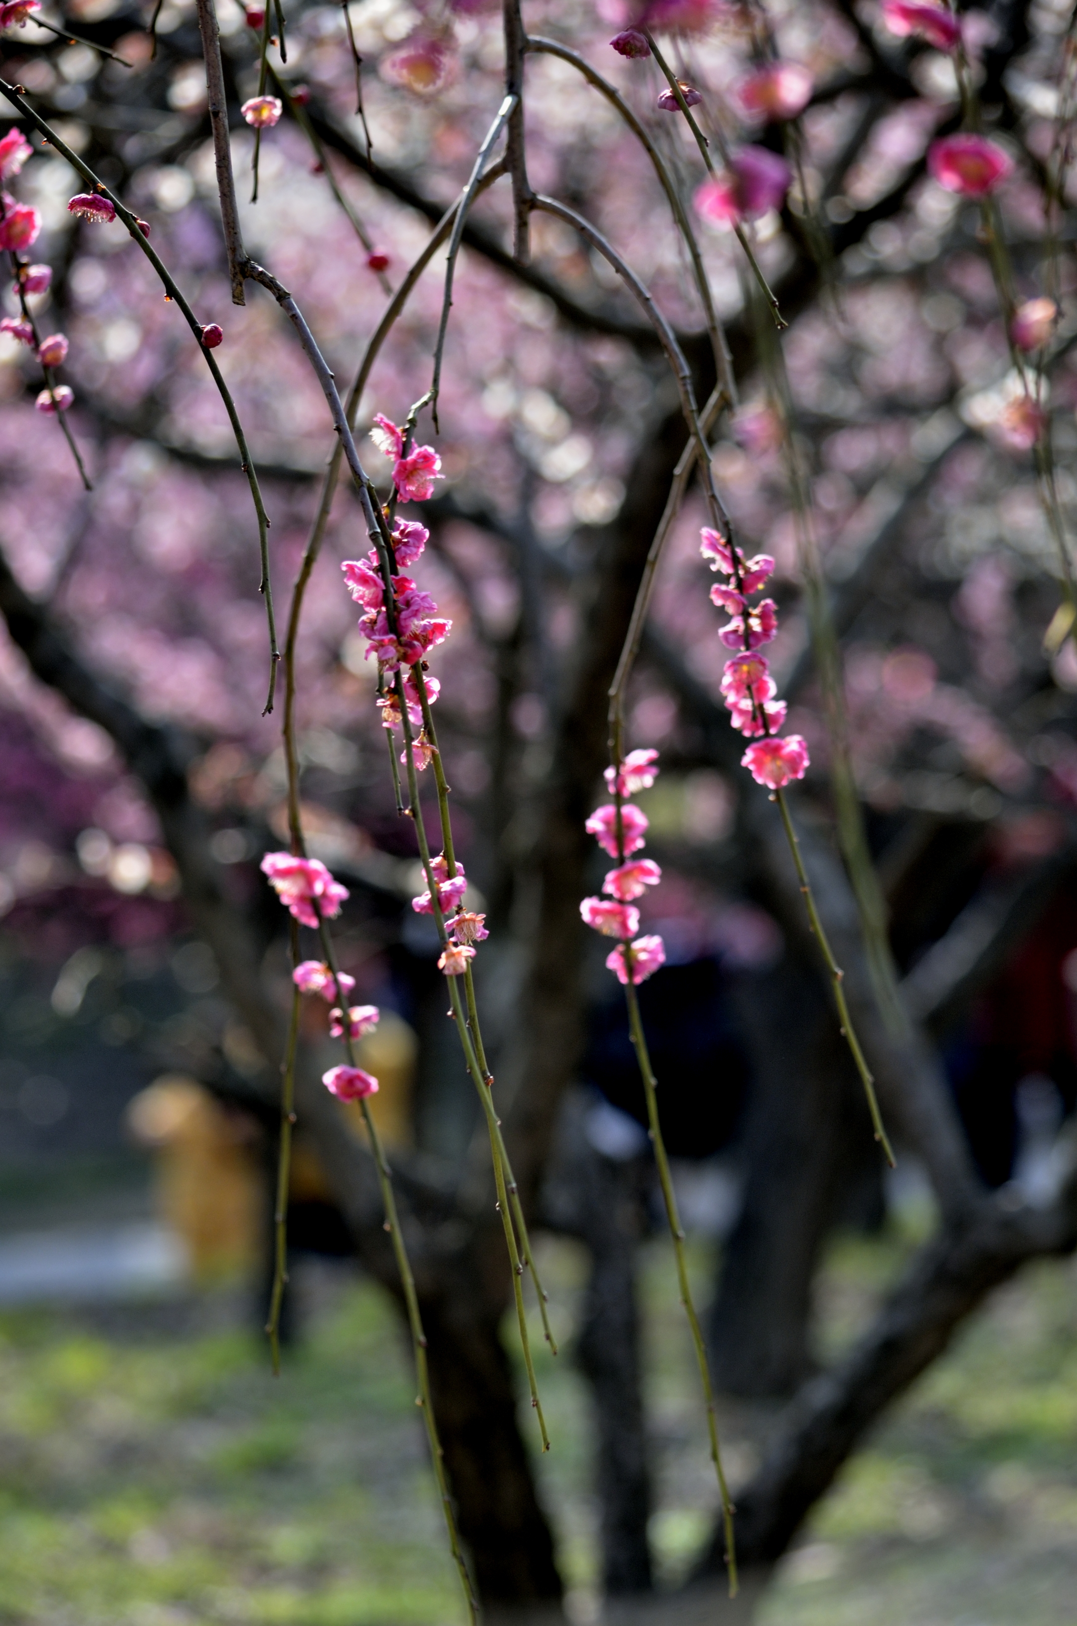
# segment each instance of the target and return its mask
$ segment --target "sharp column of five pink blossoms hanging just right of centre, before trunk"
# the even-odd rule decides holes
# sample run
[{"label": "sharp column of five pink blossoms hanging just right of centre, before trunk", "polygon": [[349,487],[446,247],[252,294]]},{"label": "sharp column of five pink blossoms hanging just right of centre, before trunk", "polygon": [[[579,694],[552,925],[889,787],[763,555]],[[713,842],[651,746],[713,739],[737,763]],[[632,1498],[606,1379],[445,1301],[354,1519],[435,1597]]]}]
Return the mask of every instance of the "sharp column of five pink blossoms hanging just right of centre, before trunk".
[{"label": "sharp column of five pink blossoms hanging just right of centre, before trunk", "polygon": [[607,767],[605,784],[617,802],[607,802],[595,808],[587,820],[586,829],[594,836],[604,852],[617,859],[617,868],[608,870],[602,881],[605,898],[584,898],[579,912],[584,924],[602,932],[604,937],[615,937],[620,946],[607,956],[607,967],[621,982],[644,982],[665,963],[665,945],[661,937],[636,937],[639,932],[639,911],[633,898],[641,898],[648,886],[657,886],[662,870],[654,859],[636,859],[628,862],[633,852],[644,846],[648,815],[625,797],[638,790],[649,790],[657,777],[657,758],[654,750],[630,751],[620,767]]}]

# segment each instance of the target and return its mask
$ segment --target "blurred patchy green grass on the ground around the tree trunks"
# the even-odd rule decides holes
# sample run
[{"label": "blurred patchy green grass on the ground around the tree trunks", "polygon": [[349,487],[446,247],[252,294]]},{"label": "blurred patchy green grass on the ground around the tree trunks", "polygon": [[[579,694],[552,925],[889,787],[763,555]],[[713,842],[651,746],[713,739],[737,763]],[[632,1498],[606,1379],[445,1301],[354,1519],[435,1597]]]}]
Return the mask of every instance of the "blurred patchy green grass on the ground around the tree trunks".
[{"label": "blurred patchy green grass on the ground around the tree trunks", "polygon": [[[843,1242],[825,1341],[854,1337],[908,1239]],[[716,1502],[664,1244],[644,1252],[657,1567],[675,1582]],[[695,1252],[700,1298],[708,1260]],[[571,1343],[584,1259],[545,1250]],[[1077,1294],[1025,1273],[867,1442],[817,1509],[760,1626],[1072,1626]],[[182,1319],[182,1317],[181,1317]],[[211,1315],[0,1317],[0,1621],[18,1626],[459,1626],[405,1345],[371,1286],[329,1294],[273,1380]],[[216,1315],[218,1324],[228,1320]],[[112,1327],[106,1332],[106,1327]],[[207,1330],[208,1328],[208,1330]],[[538,1463],[561,1567],[595,1587],[589,1402],[535,1337],[553,1450]],[[530,1428],[529,1408],[522,1413]],[[734,1478],[766,1413],[726,1406]]]}]

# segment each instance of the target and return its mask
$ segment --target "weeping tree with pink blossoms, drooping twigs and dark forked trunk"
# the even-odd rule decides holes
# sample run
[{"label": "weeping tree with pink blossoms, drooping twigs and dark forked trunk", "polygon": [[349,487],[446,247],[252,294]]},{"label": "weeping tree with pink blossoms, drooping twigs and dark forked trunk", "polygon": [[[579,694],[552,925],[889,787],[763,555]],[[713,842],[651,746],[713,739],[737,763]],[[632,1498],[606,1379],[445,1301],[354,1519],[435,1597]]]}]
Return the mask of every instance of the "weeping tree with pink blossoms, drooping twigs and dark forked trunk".
[{"label": "weeping tree with pink blossoms, drooping twigs and dark forked trunk", "polygon": [[[294,1124],[403,1309],[469,1610],[556,1603],[498,1322],[512,1299],[545,1449],[529,1226],[602,971],[582,925],[617,940],[721,1499],[701,1576],[735,1592],[991,1286],[1077,1244],[1069,1176],[1036,1211],[991,1195],[934,1044],[1072,863],[1069,13],[10,0],[0,24],[7,707],[94,780],[57,847],[106,886],[125,792],[142,889],[181,886],[264,1106],[283,1073],[270,1337]],[[377,933],[350,911],[402,888],[482,1211],[469,1159],[386,1156],[360,1065]],[[18,927],[41,902],[8,891]],[[722,948],[773,1029],[774,922],[810,1020],[799,1055],[753,1047],[708,1340],[644,985]],[[734,1514],[713,1366],[804,1376],[846,1124],[924,1164],[939,1229]],[[646,1590],[620,1280],[626,1337],[587,1341],[620,1423],[605,1577]]]}]

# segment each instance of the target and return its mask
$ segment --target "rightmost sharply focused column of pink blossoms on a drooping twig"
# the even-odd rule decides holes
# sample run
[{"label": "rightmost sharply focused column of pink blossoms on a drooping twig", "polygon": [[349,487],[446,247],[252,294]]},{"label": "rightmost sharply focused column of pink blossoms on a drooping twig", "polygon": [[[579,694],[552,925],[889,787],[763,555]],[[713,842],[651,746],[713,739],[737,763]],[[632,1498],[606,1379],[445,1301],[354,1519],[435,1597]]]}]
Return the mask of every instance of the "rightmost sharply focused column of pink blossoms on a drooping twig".
[{"label": "rightmost sharply focused column of pink blossoms on a drooping twig", "polygon": [[778,688],[765,655],[757,654],[778,631],[773,598],[748,605],[748,593],[758,592],[770,579],[774,561],[768,553],[745,559],[724,537],[708,525],[700,532],[700,553],[713,571],[727,577],[711,587],[711,603],[726,610],[730,620],[719,629],[726,649],[739,650],[726,662],[722,696],[734,728],[752,740],[740,763],[760,785],[781,790],[792,779],[804,779],[809,750],[799,733],[779,738],[776,730],[786,722],[786,702],[774,699]]}]

